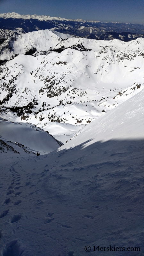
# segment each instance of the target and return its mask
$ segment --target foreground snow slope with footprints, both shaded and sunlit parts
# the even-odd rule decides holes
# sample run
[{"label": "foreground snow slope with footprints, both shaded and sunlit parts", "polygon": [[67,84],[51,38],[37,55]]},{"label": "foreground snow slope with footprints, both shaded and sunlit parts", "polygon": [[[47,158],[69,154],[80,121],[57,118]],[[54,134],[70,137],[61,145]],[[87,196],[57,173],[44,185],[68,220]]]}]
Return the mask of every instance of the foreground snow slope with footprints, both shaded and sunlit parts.
[{"label": "foreground snow slope with footprints, both shaded and sunlit parts", "polygon": [[143,99],[144,90],[49,154],[1,154],[2,256],[144,255]]}]

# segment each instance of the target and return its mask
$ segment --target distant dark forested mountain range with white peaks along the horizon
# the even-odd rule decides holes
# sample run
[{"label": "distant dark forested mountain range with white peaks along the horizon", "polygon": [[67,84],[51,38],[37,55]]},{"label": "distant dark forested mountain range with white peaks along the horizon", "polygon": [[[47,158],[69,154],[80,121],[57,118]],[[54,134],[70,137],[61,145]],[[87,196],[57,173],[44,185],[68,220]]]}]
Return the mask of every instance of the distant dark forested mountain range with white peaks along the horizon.
[{"label": "distant dark forested mountain range with white peaks along the horizon", "polygon": [[52,29],[54,31],[100,40],[120,39],[130,41],[144,37],[144,25],[101,22],[86,20],[68,20],[58,17],[39,15],[20,15],[15,12],[0,14],[0,42],[12,34],[28,33],[32,31]]}]

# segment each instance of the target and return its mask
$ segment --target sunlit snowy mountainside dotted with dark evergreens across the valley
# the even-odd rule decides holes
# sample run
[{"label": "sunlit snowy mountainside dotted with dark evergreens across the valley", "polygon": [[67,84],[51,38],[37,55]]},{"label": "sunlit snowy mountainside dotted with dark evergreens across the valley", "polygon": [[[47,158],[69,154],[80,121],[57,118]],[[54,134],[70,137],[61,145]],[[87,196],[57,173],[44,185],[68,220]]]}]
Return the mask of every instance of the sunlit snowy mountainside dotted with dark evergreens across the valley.
[{"label": "sunlit snowy mountainside dotted with dark evergreens across the valley", "polygon": [[[28,53],[32,47],[37,51]],[[1,60],[11,56],[0,68],[1,117],[9,114],[10,121],[28,121],[50,133],[58,126],[61,131],[60,123],[77,132],[81,126],[75,126],[92,122],[144,88],[143,38],[62,40],[41,30],[5,41]],[[66,130],[52,134],[66,142],[66,135],[74,135]]]}]

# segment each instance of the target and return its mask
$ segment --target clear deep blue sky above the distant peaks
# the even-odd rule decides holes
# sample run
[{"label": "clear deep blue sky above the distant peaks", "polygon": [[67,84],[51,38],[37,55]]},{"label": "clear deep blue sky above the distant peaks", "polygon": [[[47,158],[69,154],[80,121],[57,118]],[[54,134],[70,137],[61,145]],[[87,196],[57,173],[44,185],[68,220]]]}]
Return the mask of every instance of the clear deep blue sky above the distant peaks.
[{"label": "clear deep blue sky above the distant peaks", "polygon": [[144,24],[144,0],[0,0],[0,13]]}]

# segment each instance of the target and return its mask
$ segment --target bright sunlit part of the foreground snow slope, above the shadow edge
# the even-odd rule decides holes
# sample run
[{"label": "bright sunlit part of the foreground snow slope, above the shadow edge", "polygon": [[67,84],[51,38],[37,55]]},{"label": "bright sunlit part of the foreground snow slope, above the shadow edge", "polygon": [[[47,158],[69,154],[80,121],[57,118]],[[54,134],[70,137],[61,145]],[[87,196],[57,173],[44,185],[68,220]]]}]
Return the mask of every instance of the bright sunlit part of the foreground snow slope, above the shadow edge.
[{"label": "bright sunlit part of the foreground snow slope, above the shadow edge", "polygon": [[143,100],[144,90],[84,127],[65,148],[76,147],[85,141],[89,141],[85,144],[89,146],[97,141],[144,140]]}]

